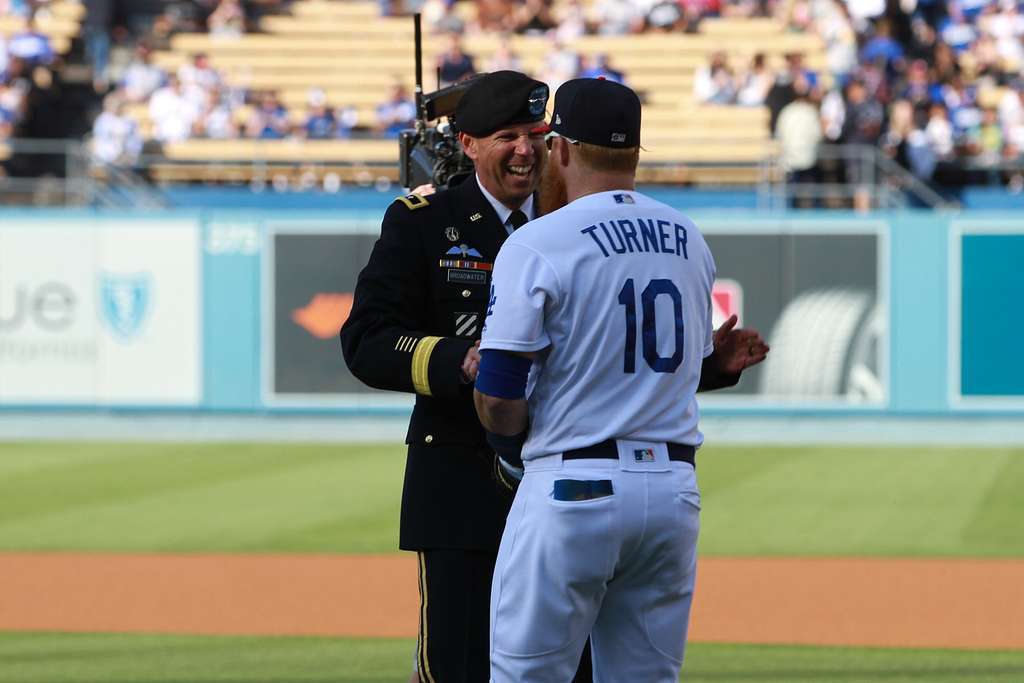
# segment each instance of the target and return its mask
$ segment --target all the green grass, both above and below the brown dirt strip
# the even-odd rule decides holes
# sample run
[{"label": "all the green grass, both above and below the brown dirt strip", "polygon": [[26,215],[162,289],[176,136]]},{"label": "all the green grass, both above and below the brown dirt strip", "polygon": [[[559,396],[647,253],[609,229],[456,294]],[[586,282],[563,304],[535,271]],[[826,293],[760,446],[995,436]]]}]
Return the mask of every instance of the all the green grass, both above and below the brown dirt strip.
[{"label": "all the green grass, both above and below the brown dirt strip", "polygon": [[[0,551],[395,552],[402,468],[397,445],[0,443]],[[1024,557],[1021,450],[709,447],[698,472],[705,555]],[[8,633],[0,683],[401,682],[412,650]],[[1022,681],[1024,651],[694,644],[683,680]]]}]

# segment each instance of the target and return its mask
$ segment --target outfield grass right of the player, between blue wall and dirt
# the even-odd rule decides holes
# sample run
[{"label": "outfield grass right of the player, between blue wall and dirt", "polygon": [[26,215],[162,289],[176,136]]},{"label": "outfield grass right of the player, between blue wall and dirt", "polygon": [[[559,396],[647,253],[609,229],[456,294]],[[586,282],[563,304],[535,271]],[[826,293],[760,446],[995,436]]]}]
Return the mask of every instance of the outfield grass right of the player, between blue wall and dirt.
[{"label": "outfield grass right of the player, between blue wall and dirt", "polygon": [[1020,450],[730,449],[708,456],[698,466],[706,553],[1024,555],[1024,533],[1007,532],[1019,528],[1024,499],[995,485],[1019,471]]}]

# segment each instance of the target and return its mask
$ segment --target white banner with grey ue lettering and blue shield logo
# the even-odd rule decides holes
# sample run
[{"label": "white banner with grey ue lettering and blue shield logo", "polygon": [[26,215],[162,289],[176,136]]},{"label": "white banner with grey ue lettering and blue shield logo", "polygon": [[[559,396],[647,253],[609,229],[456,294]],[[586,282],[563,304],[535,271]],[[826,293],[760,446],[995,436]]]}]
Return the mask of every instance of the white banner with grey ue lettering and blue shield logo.
[{"label": "white banner with grey ue lettering and blue shield logo", "polygon": [[195,221],[6,222],[0,402],[197,404]]}]

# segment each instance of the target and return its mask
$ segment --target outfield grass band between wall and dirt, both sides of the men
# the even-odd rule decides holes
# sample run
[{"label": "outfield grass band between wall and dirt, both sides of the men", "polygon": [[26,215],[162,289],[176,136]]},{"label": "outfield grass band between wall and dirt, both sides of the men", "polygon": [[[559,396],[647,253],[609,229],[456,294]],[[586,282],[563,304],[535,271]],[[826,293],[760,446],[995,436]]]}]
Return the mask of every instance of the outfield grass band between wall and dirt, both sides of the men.
[{"label": "outfield grass band between wall and dirt, both sides of the men", "polygon": [[[0,443],[0,550],[395,552],[403,451]],[[711,445],[698,476],[706,555],[1024,557],[1024,450]]]}]

